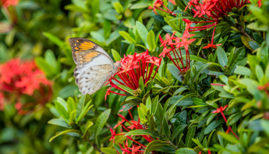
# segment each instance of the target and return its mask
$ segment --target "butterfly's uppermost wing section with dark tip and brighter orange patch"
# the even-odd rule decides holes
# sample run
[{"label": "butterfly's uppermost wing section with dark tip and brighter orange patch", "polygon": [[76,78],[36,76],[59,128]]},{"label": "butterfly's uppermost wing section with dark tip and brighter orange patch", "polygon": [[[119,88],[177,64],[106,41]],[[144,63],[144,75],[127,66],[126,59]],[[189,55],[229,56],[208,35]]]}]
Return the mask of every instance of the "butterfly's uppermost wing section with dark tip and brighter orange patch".
[{"label": "butterfly's uppermost wing section with dark tip and brighter orange patch", "polygon": [[100,47],[99,45],[97,45],[91,40],[80,38],[80,37],[73,37],[73,38],[68,39],[68,41],[72,48],[72,56],[76,64],[77,64],[76,53],[83,52],[85,50],[97,50],[105,54],[106,56],[108,56],[109,59],[111,59],[109,54],[102,47]]}]

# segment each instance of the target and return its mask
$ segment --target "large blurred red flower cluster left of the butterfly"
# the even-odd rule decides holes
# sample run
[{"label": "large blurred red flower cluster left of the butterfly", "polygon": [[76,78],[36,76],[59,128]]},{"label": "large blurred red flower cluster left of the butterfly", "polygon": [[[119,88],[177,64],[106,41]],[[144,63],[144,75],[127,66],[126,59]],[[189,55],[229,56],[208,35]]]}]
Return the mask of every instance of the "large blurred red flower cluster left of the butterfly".
[{"label": "large blurred red flower cluster left of the butterfly", "polygon": [[[1,64],[0,79],[0,110],[5,104],[16,101],[19,114],[25,114],[27,110],[23,108],[34,107],[36,102],[45,104],[52,95],[51,81],[34,61],[11,59]],[[33,102],[24,102],[23,97],[27,95],[33,97]]]}]

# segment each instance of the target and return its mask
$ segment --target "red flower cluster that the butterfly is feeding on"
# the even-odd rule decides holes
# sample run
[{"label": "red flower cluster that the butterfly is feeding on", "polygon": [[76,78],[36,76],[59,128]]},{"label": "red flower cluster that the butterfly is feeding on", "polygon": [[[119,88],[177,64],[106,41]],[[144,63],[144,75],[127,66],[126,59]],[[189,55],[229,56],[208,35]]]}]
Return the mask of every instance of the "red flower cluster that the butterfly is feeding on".
[{"label": "red flower cluster that the butterfly is feeding on", "polygon": [[[147,50],[146,52],[143,53],[134,53],[134,55],[128,55],[128,56],[124,55],[124,58],[117,62],[121,63],[121,67],[119,67],[119,71],[115,75],[118,76],[122,81],[115,78],[114,75],[108,80],[108,83],[106,85],[110,84],[112,87],[121,90],[123,92],[126,92],[122,88],[118,87],[118,85],[113,83],[114,80],[121,85],[125,85],[133,89],[134,93],[136,93],[141,91],[141,89],[138,89],[139,88],[138,83],[140,77],[142,77],[144,84],[146,84],[147,81],[154,78],[155,74],[157,73],[160,67],[161,59],[158,57],[150,56]],[[157,69],[155,74],[152,75],[154,66],[157,66]],[[120,94],[111,91],[112,87],[108,88],[107,93],[105,95],[105,99],[107,98],[107,95],[109,95],[110,93],[126,96],[125,94]]]}]

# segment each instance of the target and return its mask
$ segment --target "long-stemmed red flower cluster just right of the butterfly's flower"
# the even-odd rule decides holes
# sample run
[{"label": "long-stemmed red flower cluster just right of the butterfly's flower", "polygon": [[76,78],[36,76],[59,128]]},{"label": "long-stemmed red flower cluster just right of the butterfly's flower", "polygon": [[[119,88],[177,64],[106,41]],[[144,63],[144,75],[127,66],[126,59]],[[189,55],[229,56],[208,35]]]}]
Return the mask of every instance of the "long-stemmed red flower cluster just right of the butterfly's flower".
[{"label": "long-stemmed red flower cluster just right of the butterfly's flower", "polygon": [[[175,32],[176,33],[176,32]],[[160,37],[161,46],[164,46],[164,49],[162,50],[162,53],[159,56],[164,57],[167,55],[167,57],[175,64],[175,66],[178,68],[181,74],[185,74],[190,69],[190,53],[189,53],[189,44],[195,41],[196,39],[188,39],[194,34],[190,34],[188,32],[188,29],[185,30],[182,37],[174,37],[175,33],[173,33],[171,36],[169,34],[165,35],[165,40]],[[175,40],[175,42],[173,42]],[[176,46],[176,48],[174,47]],[[170,47],[170,48],[167,48]],[[183,63],[182,53],[180,47],[184,47],[186,50],[186,67]],[[178,49],[178,50],[176,50]],[[173,52],[175,60],[171,56],[170,52]],[[179,51],[179,54],[178,54]],[[180,63],[178,62],[180,61]],[[180,67],[180,64],[182,65],[182,69]]]}]

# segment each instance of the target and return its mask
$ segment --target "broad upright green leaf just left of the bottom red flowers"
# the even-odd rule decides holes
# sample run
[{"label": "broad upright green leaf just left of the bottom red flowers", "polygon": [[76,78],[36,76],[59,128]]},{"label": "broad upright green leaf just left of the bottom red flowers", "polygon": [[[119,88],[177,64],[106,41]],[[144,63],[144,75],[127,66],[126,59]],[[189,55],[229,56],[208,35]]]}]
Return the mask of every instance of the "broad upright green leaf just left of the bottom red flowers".
[{"label": "broad upright green leaf just left of the bottom red flowers", "polygon": [[108,120],[108,117],[110,115],[111,109],[107,109],[104,112],[102,112],[95,123],[95,138],[99,135],[99,133],[102,131],[105,123]]}]

